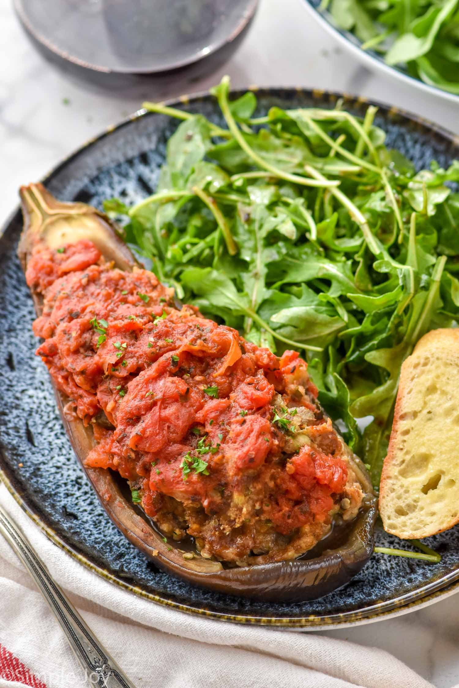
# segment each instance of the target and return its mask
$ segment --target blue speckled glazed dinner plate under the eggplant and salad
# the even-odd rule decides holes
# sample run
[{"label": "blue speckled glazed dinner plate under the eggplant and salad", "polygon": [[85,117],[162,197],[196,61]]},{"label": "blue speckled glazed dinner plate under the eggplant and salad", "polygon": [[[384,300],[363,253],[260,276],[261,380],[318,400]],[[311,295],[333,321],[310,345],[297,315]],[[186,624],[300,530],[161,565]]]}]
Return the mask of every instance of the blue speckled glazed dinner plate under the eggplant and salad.
[{"label": "blue speckled glazed dinner plate under the eggplant and salad", "polygon": [[[341,96],[263,89],[257,97],[259,114],[264,114],[273,105],[333,107]],[[363,115],[365,102],[344,100],[346,108]],[[173,105],[223,123],[211,96],[182,98]],[[98,208],[113,195],[127,202],[140,200],[156,187],[167,139],[177,125],[167,116],[139,111],[76,151],[44,182],[61,200]],[[388,146],[407,155],[418,168],[434,159],[447,167],[459,158],[459,141],[423,120],[381,106],[376,125],[387,131]],[[24,182],[29,181],[25,169]],[[132,594],[191,614],[239,623],[305,628],[363,623],[451,592],[459,581],[459,527],[427,541],[442,555],[440,563],[374,555],[348,585],[312,602],[238,599],[200,590],[155,568],[111,523],[65,436],[47,370],[34,356],[34,310],[16,255],[21,227],[18,210],[0,235],[1,477],[58,546]],[[382,530],[376,541],[379,546],[401,546]]]}]

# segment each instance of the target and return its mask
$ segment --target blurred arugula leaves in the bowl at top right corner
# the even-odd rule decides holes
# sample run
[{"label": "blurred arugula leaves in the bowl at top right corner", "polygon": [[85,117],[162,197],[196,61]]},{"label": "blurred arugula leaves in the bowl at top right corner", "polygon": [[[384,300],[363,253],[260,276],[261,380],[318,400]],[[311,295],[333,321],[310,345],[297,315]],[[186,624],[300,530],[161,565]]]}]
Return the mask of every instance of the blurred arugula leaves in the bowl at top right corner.
[{"label": "blurred arugula leaves in the bowl at top right corner", "polygon": [[335,23],[388,65],[459,94],[459,0],[323,0]]}]

